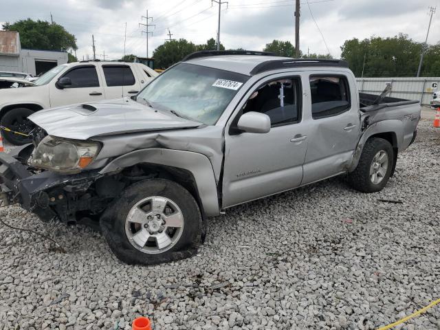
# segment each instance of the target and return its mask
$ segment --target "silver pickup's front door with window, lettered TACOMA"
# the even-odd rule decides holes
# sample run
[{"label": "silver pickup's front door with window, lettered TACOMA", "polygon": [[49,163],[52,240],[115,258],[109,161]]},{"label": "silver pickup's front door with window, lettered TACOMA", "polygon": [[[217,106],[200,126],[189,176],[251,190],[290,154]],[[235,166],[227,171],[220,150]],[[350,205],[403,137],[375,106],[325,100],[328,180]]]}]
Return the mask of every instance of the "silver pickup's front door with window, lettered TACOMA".
[{"label": "silver pickup's front door with window, lettered TACOMA", "polygon": [[[289,190],[300,185],[307,149],[301,122],[300,77],[277,77],[252,89],[239,104],[225,132],[222,208]],[[247,100],[247,101],[246,101]],[[270,117],[269,133],[242,133],[234,129],[248,111]]]}]

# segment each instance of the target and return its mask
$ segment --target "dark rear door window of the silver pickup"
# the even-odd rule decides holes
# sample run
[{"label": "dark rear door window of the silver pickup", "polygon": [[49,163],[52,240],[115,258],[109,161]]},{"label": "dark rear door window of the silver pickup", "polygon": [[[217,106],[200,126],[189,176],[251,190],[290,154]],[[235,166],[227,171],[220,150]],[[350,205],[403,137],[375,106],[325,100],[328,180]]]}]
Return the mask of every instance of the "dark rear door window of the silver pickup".
[{"label": "dark rear door window of the silver pickup", "polygon": [[311,116],[339,115],[350,109],[350,91],[344,76],[310,76]]}]

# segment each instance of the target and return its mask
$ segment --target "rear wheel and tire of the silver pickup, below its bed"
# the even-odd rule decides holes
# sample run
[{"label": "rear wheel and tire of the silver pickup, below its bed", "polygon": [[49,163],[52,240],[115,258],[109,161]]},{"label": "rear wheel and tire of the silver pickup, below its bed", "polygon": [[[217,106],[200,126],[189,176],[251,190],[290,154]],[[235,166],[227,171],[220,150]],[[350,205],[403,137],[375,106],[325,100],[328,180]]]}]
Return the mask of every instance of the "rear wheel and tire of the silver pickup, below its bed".
[{"label": "rear wheel and tire of the silver pickup, below its bed", "polygon": [[377,192],[386,186],[393,170],[394,151],[380,137],[366,141],[358,166],[349,173],[349,184],[361,192]]}]

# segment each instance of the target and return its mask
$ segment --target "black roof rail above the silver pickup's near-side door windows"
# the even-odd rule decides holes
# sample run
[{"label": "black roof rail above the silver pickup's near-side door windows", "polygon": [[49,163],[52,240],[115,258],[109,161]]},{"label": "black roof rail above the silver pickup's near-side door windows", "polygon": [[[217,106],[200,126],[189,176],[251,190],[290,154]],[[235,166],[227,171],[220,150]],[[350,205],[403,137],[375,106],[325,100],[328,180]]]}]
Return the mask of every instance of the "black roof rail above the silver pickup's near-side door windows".
[{"label": "black roof rail above the silver pickup's near-side door windows", "polygon": [[261,72],[284,69],[285,67],[349,67],[346,61],[335,60],[333,58],[292,58],[283,60],[265,61],[256,65],[250,72],[251,75]]}]

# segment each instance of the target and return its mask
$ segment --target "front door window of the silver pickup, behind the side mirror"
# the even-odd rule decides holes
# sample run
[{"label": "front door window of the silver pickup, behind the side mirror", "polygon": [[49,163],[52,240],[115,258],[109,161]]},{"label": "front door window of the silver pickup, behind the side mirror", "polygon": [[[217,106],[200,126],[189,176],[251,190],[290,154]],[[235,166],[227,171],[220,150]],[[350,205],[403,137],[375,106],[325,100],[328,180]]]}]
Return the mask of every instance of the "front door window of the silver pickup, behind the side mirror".
[{"label": "front door window of the silver pickup, behind the side mirror", "polygon": [[252,93],[243,113],[255,111],[269,116],[273,126],[299,122],[301,117],[300,78],[283,78],[261,85]]}]

